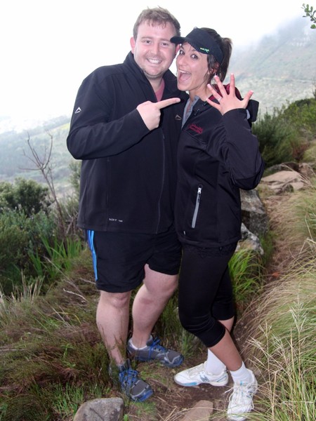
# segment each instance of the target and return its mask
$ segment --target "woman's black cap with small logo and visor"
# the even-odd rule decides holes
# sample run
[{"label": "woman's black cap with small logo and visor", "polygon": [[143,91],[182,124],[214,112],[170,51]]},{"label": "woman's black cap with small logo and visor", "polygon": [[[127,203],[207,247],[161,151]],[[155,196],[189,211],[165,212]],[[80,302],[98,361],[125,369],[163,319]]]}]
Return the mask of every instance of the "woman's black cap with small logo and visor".
[{"label": "woman's black cap with small logo and visor", "polygon": [[208,32],[203,29],[195,28],[187,36],[173,36],[170,40],[173,44],[183,44],[188,42],[199,53],[211,54],[221,63],[223,60],[223,51]]}]

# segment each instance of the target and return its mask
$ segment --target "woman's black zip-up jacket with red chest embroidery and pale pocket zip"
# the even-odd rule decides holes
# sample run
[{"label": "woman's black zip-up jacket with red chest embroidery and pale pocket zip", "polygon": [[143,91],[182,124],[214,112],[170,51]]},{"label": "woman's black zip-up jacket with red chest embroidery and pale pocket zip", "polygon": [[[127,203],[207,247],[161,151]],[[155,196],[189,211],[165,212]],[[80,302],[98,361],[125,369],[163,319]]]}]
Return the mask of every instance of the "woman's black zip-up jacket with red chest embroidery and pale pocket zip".
[{"label": "woman's black zip-up jacket with red chest embroidery and pale pocket zip", "polygon": [[223,116],[198,100],[178,147],[176,230],[182,243],[221,247],[241,238],[240,189],[254,189],[264,171],[245,109]]}]

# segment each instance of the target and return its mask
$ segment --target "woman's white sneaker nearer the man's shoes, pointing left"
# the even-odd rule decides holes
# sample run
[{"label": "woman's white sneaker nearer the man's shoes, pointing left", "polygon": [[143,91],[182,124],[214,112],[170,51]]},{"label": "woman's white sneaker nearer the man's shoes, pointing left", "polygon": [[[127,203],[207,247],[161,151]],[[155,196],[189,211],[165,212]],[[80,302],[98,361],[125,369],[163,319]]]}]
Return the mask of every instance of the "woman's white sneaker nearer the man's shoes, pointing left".
[{"label": "woman's white sneaker nearer the man's shoes, pointing left", "polygon": [[205,366],[206,362],[180,371],[173,379],[178,385],[186,387],[201,385],[201,383],[208,383],[212,386],[225,386],[228,384],[228,373],[226,370],[223,370],[218,375],[213,375],[206,372]]}]

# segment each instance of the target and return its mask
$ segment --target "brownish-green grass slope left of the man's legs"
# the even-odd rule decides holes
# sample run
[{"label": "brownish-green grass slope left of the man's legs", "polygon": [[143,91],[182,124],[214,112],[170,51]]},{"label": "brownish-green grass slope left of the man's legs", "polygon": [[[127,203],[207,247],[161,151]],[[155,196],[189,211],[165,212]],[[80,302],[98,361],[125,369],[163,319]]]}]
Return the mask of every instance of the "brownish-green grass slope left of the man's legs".
[{"label": "brownish-green grass slope left of the man's legs", "polygon": [[72,420],[84,401],[111,395],[86,285],[65,277],[46,295],[34,281],[0,296],[1,421]]}]

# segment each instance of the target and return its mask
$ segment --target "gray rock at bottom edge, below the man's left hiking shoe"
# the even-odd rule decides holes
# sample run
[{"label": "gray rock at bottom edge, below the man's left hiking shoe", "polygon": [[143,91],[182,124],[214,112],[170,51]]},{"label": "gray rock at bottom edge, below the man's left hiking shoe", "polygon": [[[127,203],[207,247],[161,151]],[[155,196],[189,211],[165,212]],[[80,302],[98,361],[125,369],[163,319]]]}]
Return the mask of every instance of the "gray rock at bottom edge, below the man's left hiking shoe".
[{"label": "gray rock at bottom edge, below the man's left hiking shoe", "polygon": [[80,406],[74,415],[74,421],[122,421],[123,416],[123,399],[92,399]]}]

